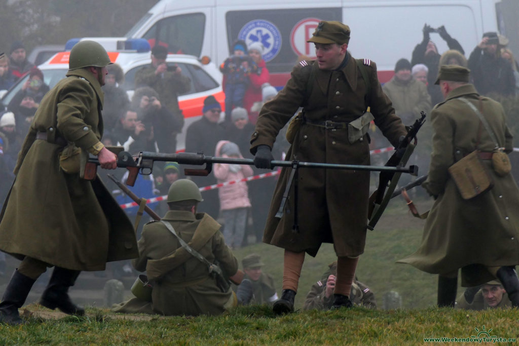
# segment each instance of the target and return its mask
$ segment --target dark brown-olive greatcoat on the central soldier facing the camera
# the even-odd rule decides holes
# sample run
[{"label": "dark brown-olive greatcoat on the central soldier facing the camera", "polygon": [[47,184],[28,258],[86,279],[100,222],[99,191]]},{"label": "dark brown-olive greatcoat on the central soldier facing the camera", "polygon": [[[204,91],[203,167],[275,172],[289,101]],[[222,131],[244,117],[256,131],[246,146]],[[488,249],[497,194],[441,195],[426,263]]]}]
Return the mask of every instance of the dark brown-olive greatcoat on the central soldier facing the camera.
[{"label": "dark brown-olive greatcoat on the central soldier facing the camera", "polygon": [[[279,130],[305,106],[305,116],[311,120],[350,122],[359,118],[366,106],[371,106],[375,124],[393,145],[406,134],[394,114],[391,101],[382,91],[376,65],[366,61],[364,68],[371,83],[369,102],[365,102],[366,84],[358,62],[347,54],[346,65],[338,71],[324,71],[313,61],[294,67],[291,78],[276,99],[267,102],[256,123],[251,139],[251,153],[258,145],[272,147]],[[313,68],[313,73],[310,71]],[[311,93],[307,93],[310,76]],[[307,101],[307,102],[305,102]],[[352,144],[346,129],[325,129],[305,123],[296,134],[287,160],[309,162],[370,164],[370,148],[363,138]],[[333,242],[338,256],[358,256],[364,252],[366,238],[370,172],[346,170],[299,169],[298,225],[294,224],[294,188],[285,206],[283,217],[275,218],[291,169],[282,169],[265,226],[263,241],[286,250],[317,254],[321,243]]]}]

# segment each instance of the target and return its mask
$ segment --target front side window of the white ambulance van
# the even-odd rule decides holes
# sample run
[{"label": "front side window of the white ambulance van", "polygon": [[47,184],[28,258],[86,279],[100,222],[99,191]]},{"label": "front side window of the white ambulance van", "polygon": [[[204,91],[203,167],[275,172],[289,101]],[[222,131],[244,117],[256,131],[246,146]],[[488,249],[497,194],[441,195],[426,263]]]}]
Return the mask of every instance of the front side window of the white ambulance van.
[{"label": "front side window of the white ambulance van", "polygon": [[160,43],[168,52],[200,56],[206,16],[203,13],[187,13],[164,18],[149,29],[144,38],[153,47]]}]

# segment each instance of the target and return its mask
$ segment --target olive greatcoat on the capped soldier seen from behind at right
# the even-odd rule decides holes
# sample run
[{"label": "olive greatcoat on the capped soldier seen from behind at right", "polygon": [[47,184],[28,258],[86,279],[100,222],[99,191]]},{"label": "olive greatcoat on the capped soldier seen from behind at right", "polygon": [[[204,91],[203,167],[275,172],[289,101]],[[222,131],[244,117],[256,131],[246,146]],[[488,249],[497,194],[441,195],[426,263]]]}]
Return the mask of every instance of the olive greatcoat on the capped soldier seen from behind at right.
[{"label": "olive greatcoat on the capped soldier seen from behind at right", "polygon": [[[484,164],[494,179],[494,187],[470,200],[461,198],[447,169],[455,153],[471,153],[476,147],[480,119],[460,97],[479,107],[478,94],[470,84],[452,90],[445,102],[431,113],[433,127],[427,191],[436,197],[426,220],[418,250],[399,260],[429,273],[445,274],[462,268],[462,285],[476,286],[495,280],[484,266],[519,264],[519,190],[509,173],[497,176],[491,161]],[[501,105],[483,98],[485,119],[499,146],[512,150],[512,135]],[[495,144],[482,127],[479,148],[492,151]]]}]

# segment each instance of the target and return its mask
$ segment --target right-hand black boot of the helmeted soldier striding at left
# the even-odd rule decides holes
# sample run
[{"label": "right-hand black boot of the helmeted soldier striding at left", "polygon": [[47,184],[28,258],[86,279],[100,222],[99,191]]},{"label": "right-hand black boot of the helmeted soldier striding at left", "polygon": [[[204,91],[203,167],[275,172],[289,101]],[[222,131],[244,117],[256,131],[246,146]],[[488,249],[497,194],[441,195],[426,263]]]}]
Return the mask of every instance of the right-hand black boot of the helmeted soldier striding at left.
[{"label": "right-hand black boot of the helmeted soldier striding at left", "polygon": [[69,297],[69,288],[74,286],[80,271],[54,267],[49,284],[39,303],[46,308],[60,309],[66,314],[83,316],[85,309],[75,305]]}]

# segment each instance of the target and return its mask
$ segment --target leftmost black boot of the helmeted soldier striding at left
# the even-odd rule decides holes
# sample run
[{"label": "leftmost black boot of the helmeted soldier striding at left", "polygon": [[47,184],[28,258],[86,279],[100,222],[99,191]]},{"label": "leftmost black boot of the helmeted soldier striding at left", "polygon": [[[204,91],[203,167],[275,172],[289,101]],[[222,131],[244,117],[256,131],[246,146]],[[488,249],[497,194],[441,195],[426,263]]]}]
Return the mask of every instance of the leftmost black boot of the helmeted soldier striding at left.
[{"label": "leftmost black boot of the helmeted soldier striding at left", "polygon": [[0,323],[10,325],[26,323],[20,318],[18,309],[22,307],[25,299],[27,299],[35,281],[15,270],[0,303]]}]

